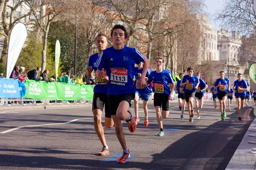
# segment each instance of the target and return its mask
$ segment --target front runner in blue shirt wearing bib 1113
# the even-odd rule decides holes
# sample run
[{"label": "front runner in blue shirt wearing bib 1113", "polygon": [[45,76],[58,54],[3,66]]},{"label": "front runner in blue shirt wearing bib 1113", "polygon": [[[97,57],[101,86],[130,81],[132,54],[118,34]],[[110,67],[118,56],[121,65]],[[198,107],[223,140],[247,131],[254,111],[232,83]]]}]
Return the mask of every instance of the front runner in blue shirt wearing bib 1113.
[{"label": "front runner in blue shirt wearing bib 1113", "polygon": [[147,82],[145,76],[148,71],[149,60],[143,56],[140,51],[135,48],[130,48],[124,45],[127,41],[128,32],[124,26],[115,25],[111,30],[111,38],[113,47],[102,51],[99,59],[96,61],[97,67],[96,76],[104,77],[107,71],[109,77],[108,82],[108,103],[115,125],[116,137],[122,146],[123,154],[117,160],[117,163],[125,163],[130,157],[130,152],[127,148],[125,135],[123,133],[122,120],[128,124],[130,132],[136,130],[136,123],[128,111],[131,107],[131,100],[134,99],[134,65],[144,62],[142,74],[140,76],[137,87],[145,88]]}]

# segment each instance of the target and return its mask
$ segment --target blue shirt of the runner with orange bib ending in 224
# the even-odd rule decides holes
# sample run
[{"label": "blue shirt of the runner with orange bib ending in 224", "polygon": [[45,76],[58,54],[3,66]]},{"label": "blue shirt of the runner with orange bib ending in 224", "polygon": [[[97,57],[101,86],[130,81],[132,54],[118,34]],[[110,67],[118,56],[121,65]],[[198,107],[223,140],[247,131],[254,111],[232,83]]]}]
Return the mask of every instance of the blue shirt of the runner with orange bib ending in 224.
[{"label": "blue shirt of the runner with orange bib ending in 224", "polygon": [[157,71],[151,72],[148,77],[148,84],[150,84],[152,81],[154,82],[154,93],[166,94],[169,96],[171,93],[169,83],[174,83],[171,71],[163,70],[161,73],[157,73]]}]

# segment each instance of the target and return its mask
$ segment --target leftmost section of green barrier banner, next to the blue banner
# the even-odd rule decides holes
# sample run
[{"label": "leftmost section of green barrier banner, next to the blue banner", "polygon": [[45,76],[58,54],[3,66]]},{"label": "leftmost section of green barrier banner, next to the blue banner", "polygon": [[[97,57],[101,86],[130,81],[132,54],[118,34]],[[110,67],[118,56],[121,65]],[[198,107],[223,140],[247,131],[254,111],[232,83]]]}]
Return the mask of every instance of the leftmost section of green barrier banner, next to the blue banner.
[{"label": "leftmost section of green barrier banner, next to the blue banner", "polygon": [[29,99],[47,99],[44,83],[45,82],[26,80],[27,91],[24,97]]}]

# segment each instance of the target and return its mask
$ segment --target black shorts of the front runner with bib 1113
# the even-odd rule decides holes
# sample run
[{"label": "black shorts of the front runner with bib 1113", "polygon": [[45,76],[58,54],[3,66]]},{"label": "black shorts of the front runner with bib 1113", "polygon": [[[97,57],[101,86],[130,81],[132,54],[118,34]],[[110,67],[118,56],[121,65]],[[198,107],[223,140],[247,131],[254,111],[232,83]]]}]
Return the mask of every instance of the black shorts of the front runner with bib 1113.
[{"label": "black shorts of the front runner with bib 1113", "polygon": [[131,107],[131,100],[135,97],[135,93],[128,94],[118,94],[118,95],[108,95],[108,105],[111,111],[111,115],[116,115],[119,103],[122,101],[127,101]]}]

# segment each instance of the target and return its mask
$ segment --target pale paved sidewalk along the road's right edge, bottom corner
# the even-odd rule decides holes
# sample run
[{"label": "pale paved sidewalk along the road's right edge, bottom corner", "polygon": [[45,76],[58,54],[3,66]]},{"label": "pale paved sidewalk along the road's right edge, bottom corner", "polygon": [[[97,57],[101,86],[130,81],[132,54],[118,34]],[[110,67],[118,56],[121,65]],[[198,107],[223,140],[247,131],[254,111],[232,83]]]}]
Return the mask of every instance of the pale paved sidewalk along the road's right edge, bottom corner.
[{"label": "pale paved sidewalk along the road's right edge, bottom corner", "polygon": [[[256,108],[253,108],[254,117],[256,117]],[[255,137],[248,136],[249,134],[255,133],[250,131],[251,129],[256,128],[256,118],[251,123],[247,132],[244,134],[244,137],[236,149],[236,152],[230,159],[226,170],[254,170],[256,165],[256,152],[253,152],[251,149],[256,149],[256,144],[251,142],[256,141]],[[250,141],[250,143],[249,143]]]}]

